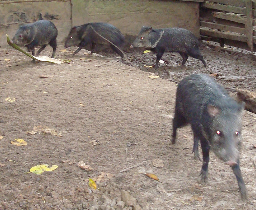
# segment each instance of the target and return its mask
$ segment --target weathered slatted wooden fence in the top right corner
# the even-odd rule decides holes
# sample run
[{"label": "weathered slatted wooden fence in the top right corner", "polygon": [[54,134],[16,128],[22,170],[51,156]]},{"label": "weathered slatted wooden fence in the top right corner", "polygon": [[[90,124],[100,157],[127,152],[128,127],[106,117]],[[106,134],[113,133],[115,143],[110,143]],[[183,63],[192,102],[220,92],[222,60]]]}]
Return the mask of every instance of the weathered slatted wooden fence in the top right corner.
[{"label": "weathered slatted wooden fence in the top right corner", "polygon": [[256,2],[210,0],[201,3],[202,39],[256,51]]}]

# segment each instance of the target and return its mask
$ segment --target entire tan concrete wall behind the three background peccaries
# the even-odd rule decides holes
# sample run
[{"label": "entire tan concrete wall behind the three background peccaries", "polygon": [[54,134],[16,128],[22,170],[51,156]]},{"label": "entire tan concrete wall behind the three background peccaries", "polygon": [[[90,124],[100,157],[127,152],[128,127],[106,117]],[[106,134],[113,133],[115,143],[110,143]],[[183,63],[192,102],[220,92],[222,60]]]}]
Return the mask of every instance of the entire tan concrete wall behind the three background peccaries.
[{"label": "entire tan concrete wall behind the three background peccaries", "polygon": [[171,0],[2,0],[0,46],[7,46],[20,24],[38,20],[39,13],[58,28],[58,43],[70,28],[88,22],[113,24],[124,35],[136,36],[143,25],[181,27],[199,34],[199,2]]}]

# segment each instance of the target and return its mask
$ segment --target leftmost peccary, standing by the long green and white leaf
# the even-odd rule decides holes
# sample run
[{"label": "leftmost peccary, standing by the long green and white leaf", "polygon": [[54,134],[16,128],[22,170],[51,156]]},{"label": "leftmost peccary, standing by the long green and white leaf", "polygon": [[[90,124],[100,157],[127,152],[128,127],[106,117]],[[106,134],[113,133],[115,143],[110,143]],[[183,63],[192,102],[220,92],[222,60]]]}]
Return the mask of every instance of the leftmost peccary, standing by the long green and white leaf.
[{"label": "leftmost peccary, standing by the long green and white leaf", "polygon": [[54,58],[57,48],[57,35],[58,30],[53,22],[49,20],[38,20],[34,23],[21,25],[12,38],[12,41],[19,46],[26,46],[28,51],[32,51],[32,55],[34,56],[35,46],[41,47],[36,53],[36,55],[39,55],[49,44],[53,48],[52,58]]}]

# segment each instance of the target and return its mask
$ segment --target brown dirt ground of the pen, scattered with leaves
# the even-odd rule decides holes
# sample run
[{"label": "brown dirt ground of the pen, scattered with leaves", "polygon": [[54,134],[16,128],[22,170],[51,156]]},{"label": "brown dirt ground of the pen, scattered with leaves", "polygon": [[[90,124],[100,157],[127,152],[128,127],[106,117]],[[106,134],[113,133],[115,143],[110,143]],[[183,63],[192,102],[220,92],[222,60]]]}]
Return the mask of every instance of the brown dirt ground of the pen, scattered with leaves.
[{"label": "brown dirt ground of the pen, scattered with leaves", "polygon": [[[244,111],[240,165],[248,201],[243,202],[231,168],[213,153],[208,182],[198,182],[202,161],[193,158],[189,126],[179,129],[177,143],[170,144],[177,85],[167,80],[218,73],[226,88],[255,92],[251,55],[202,44],[207,68],[193,58],[181,67],[181,57],[168,53],[163,59],[169,63],[161,64],[155,72],[160,77],[152,79],[148,71],[153,70],[144,65],[154,64],[156,55],[142,49],[125,49],[132,64],[121,63],[114,53],[98,57],[81,50],[72,56],[76,47],[63,49],[58,46],[57,58],[72,62],[32,63],[11,47],[0,48],[0,210],[256,208],[256,114]],[[51,48],[41,54],[51,55]],[[238,77],[230,81],[228,76]],[[5,101],[8,97],[15,101]],[[27,134],[39,125],[61,135]],[[16,138],[27,146],[11,144]],[[79,161],[93,169],[79,168]],[[39,164],[58,168],[26,173]],[[96,190],[88,185],[95,177],[100,180]]]}]

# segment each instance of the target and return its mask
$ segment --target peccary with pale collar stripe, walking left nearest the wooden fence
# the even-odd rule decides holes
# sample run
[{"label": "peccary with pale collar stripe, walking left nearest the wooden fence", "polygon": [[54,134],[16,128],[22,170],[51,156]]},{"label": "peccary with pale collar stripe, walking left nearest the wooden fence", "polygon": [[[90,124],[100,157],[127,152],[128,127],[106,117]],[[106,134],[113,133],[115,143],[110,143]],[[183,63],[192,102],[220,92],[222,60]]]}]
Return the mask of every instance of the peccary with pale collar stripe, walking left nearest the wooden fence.
[{"label": "peccary with pale collar stripe, walking left nearest the wooden fence", "polygon": [[164,52],[178,52],[183,58],[182,65],[186,63],[189,56],[192,56],[193,58],[201,60],[204,67],[206,67],[198,45],[198,39],[187,29],[153,29],[152,27],[143,26],[130,47],[145,47],[146,50],[151,50],[156,53],[156,64],[154,68],[158,68],[159,60]]}]

